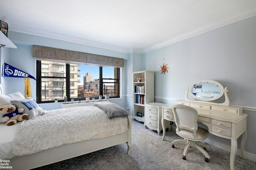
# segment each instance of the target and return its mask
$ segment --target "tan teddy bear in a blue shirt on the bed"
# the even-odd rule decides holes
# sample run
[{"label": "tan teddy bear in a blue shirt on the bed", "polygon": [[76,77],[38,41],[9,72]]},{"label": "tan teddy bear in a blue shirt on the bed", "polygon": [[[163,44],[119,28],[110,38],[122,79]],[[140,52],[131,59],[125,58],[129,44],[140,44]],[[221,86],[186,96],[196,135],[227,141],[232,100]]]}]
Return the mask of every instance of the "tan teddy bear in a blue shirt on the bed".
[{"label": "tan teddy bear in a blue shirt on the bed", "polygon": [[13,103],[1,107],[0,111],[3,115],[2,122],[6,122],[8,126],[15,125],[17,121],[24,121],[28,118],[28,114],[20,114],[24,112],[24,109],[17,109]]}]

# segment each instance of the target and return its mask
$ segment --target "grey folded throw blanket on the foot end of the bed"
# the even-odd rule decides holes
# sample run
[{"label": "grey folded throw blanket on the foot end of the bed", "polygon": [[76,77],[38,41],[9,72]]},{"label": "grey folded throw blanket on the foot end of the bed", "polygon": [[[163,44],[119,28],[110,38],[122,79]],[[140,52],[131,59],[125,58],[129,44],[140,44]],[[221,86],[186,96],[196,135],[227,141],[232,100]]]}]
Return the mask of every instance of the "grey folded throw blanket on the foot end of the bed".
[{"label": "grey folded throw blanket on the foot end of the bed", "polygon": [[93,105],[103,109],[103,111],[107,113],[109,119],[128,116],[128,112],[115,103],[101,101],[96,102]]}]

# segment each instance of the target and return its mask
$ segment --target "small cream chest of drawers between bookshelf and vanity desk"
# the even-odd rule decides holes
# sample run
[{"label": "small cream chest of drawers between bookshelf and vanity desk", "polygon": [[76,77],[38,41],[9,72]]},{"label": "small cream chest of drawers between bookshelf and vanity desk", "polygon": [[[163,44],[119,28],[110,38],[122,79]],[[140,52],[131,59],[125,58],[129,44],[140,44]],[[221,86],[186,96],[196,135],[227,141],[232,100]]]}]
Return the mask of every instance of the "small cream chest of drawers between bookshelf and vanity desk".
[{"label": "small cream chest of drawers between bookshelf and vanity desk", "polygon": [[[144,126],[148,127],[152,130],[157,130],[158,135],[160,134],[160,131],[162,128],[162,103],[147,103],[145,107],[145,117],[146,121]],[[168,110],[168,112],[172,113],[171,110]],[[170,122],[165,120],[166,126],[165,128],[170,128]]]}]

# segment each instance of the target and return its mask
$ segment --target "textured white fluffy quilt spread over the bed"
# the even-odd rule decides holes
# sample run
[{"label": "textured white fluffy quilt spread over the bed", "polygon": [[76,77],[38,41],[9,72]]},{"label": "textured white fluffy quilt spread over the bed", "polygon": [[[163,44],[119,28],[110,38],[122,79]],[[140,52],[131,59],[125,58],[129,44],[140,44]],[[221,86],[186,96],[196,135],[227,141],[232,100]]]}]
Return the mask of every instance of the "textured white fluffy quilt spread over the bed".
[{"label": "textured white fluffy quilt spread over the bed", "polygon": [[14,137],[12,152],[23,156],[85,140],[106,138],[128,130],[128,118],[108,119],[96,106],[48,111],[23,121]]}]

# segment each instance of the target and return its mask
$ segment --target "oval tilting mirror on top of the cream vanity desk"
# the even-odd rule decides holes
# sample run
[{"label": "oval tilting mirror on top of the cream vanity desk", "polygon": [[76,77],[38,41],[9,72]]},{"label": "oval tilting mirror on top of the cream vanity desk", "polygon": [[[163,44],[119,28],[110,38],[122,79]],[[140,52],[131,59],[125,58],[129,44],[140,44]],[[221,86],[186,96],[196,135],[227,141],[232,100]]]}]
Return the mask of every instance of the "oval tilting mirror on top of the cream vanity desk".
[{"label": "oval tilting mirror on top of the cream vanity desk", "polygon": [[195,99],[213,101],[222,97],[224,88],[217,81],[201,80],[190,86],[190,93]]}]

